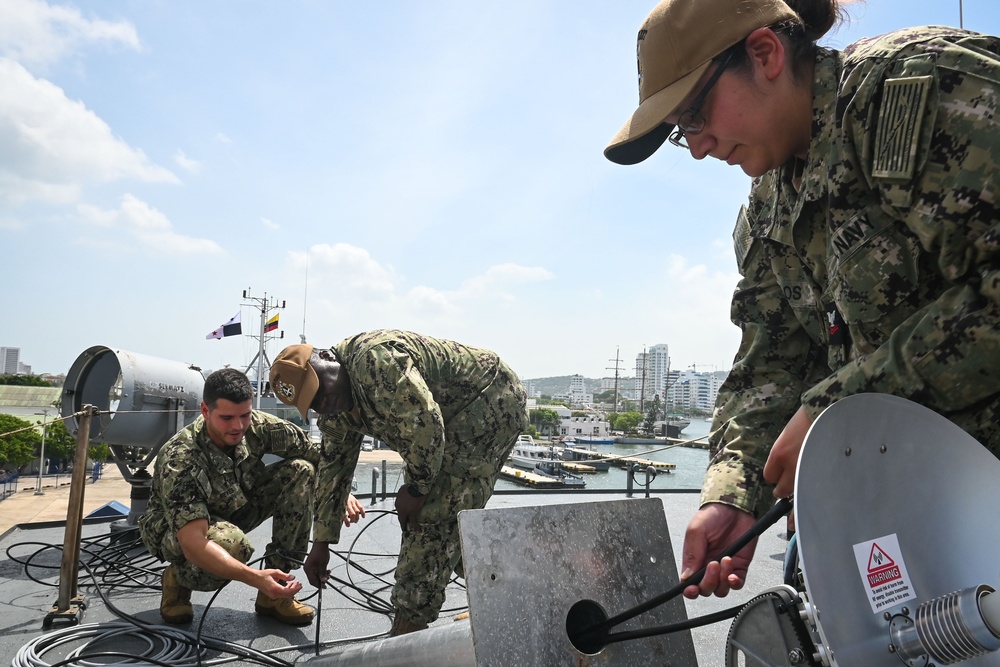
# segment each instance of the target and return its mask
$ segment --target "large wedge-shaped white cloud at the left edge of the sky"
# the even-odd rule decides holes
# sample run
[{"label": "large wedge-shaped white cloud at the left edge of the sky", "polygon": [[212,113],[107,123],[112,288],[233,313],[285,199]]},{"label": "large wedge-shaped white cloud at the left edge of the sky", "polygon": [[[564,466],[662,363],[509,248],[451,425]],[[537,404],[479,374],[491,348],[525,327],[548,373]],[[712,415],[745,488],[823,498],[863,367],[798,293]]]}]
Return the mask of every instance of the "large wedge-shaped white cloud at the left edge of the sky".
[{"label": "large wedge-shaped white cloud at the left edge of the sky", "polygon": [[0,58],[0,205],[52,196],[65,203],[83,183],[177,183],[59,87]]}]

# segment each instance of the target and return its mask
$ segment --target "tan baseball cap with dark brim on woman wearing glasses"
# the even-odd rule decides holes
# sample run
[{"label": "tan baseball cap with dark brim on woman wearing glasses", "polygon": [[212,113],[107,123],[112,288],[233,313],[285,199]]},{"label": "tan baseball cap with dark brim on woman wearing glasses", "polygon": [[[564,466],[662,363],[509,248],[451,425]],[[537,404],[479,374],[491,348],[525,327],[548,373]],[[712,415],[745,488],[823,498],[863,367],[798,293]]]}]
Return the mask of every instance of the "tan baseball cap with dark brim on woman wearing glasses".
[{"label": "tan baseball cap with dark brim on woman wearing glasses", "polygon": [[691,93],[712,58],[757,28],[798,15],[782,0],[663,0],[639,29],[639,108],[604,149],[618,164],[656,152],[674,126],[666,118]]}]

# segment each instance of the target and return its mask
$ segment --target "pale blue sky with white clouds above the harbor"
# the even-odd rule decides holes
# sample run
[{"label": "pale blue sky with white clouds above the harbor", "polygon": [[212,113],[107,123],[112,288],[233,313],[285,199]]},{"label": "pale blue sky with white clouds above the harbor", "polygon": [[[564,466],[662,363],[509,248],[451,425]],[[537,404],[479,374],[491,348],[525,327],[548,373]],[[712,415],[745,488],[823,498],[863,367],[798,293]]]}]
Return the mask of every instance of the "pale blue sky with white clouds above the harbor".
[{"label": "pale blue sky with white clouds above the harbor", "polygon": [[[205,340],[242,299],[284,341],[397,327],[523,377],[600,377],[667,343],[727,369],[748,179],[602,150],[637,101],[654,2],[0,0],[0,346],[60,373],[92,345],[245,367]],[[825,44],[958,25],[871,0]],[[995,0],[966,28],[1000,33]]]}]

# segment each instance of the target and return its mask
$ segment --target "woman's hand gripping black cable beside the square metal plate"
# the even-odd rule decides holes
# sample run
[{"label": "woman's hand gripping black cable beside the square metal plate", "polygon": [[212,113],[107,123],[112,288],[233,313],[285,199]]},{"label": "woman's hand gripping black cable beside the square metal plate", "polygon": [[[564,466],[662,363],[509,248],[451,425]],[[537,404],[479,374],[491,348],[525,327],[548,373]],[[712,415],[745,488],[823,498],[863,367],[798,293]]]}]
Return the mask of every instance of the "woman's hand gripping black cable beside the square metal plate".
[{"label": "woman's hand gripping black cable beside the square metal plate", "polygon": [[686,587],[684,597],[694,600],[699,595],[714,594],[722,598],[729,591],[743,588],[757,540],[732,558],[723,558],[721,562],[709,561],[709,558],[722,553],[753,524],[754,517],[749,512],[721,503],[710,503],[695,513],[684,534],[681,581],[691,578],[703,567],[705,576],[697,586]]}]

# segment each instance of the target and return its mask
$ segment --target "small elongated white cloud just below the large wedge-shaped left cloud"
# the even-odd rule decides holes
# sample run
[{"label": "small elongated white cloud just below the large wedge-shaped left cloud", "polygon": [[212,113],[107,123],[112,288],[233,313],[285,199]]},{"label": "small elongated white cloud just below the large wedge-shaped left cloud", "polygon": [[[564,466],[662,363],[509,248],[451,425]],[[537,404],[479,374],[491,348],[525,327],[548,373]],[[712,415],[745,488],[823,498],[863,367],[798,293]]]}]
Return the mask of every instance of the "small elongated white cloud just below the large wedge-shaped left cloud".
[{"label": "small elongated white cloud just below the large wedge-shaped left cloud", "polygon": [[78,212],[85,222],[97,227],[122,232],[140,246],[170,255],[224,255],[225,251],[211,239],[184,236],[174,231],[170,220],[146,202],[126,194],[121,207],[100,209],[81,204]]}]

